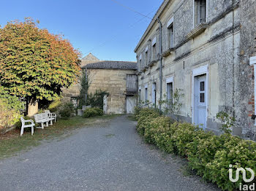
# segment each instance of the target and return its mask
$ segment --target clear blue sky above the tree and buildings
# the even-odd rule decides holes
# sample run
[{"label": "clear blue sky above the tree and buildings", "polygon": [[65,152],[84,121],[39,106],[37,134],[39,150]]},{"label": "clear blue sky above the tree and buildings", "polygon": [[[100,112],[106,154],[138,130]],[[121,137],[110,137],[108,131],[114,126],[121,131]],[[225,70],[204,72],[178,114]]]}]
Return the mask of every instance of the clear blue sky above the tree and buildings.
[{"label": "clear blue sky above the tree and buildings", "polygon": [[[154,17],[163,0],[116,1]],[[102,61],[136,61],[135,47],[151,22],[111,0],[1,0],[1,27],[25,17],[63,34],[83,56],[91,52]]]}]

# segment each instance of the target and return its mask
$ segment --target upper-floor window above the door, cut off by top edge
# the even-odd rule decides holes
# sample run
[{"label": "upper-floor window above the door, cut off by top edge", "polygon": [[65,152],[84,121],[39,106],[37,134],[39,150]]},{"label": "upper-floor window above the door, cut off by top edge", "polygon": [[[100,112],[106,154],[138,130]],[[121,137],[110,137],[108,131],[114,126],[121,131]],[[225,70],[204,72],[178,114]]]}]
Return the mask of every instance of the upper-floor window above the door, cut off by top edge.
[{"label": "upper-floor window above the door, cut off by top edge", "polygon": [[195,26],[206,23],[206,0],[195,0],[194,10]]}]

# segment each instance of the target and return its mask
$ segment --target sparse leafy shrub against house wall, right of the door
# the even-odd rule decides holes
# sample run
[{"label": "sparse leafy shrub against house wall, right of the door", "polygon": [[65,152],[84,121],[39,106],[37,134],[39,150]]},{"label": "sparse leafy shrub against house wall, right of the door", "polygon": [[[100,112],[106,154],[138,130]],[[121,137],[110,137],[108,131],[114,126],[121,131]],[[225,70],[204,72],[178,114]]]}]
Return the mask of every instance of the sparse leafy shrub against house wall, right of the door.
[{"label": "sparse leafy shrub against house wall, right of the door", "polygon": [[226,112],[219,112],[217,113],[217,119],[222,121],[222,128],[221,130],[224,131],[224,133],[231,133],[231,128],[233,127],[234,123],[236,122],[235,117],[230,117],[229,114]]}]

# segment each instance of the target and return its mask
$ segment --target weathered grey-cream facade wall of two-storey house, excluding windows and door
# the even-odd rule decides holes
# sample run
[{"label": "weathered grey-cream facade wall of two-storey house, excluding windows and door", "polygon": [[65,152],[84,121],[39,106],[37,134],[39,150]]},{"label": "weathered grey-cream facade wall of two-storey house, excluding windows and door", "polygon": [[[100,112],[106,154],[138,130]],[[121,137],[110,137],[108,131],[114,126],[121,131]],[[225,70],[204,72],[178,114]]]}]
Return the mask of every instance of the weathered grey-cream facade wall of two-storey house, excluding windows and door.
[{"label": "weathered grey-cream facade wall of two-storey house, excluding windows and door", "polygon": [[[168,49],[167,22],[174,18],[174,48],[170,55],[163,58],[163,95],[166,93],[166,79],[173,77],[174,89],[184,93],[181,100],[182,120],[193,121],[193,82],[192,72],[200,66],[208,66],[208,105],[207,128],[219,133],[218,112],[228,112],[236,117],[233,134],[246,136],[255,132],[254,90],[252,69],[249,57],[255,54],[255,1],[207,1],[208,26],[203,33],[188,38],[193,30],[193,1],[169,1],[167,7],[157,13],[162,21],[163,51]],[[159,24],[152,25],[136,52],[143,53],[146,42],[156,35]],[[254,28],[254,29],[252,29]],[[244,55],[245,58],[241,58]],[[243,57],[243,56],[242,56]],[[139,87],[141,99],[144,99],[145,85],[148,86],[148,98],[152,98],[152,83],[157,82],[157,99],[159,100],[160,80],[159,61],[154,66],[140,71]],[[252,133],[251,133],[252,134]],[[250,137],[252,139],[252,136]]]}]

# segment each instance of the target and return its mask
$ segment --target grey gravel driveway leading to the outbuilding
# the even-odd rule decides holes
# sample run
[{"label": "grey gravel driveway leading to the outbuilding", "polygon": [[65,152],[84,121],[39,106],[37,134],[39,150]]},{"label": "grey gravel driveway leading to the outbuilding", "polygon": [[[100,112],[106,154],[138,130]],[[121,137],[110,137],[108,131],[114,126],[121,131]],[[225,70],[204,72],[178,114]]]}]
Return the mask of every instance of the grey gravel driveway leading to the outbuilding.
[{"label": "grey gravel driveway leading to the outbuilding", "polygon": [[218,190],[144,144],[127,116],[0,161],[0,190]]}]

